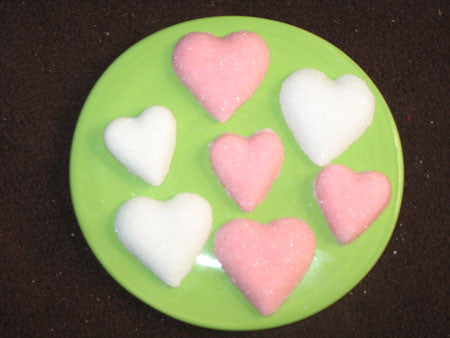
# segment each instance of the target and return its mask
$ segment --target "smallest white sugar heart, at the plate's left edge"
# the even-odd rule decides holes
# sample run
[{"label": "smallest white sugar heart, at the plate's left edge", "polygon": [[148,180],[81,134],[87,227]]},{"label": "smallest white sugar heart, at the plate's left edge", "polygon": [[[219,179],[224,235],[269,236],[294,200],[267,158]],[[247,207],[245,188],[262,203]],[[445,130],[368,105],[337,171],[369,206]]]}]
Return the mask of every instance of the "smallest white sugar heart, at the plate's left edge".
[{"label": "smallest white sugar heart, at the plate's left edge", "polygon": [[133,175],[161,185],[176,143],[176,120],[169,109],[154,106],[136,118],[112,121],[103,134],[109,152]]}]

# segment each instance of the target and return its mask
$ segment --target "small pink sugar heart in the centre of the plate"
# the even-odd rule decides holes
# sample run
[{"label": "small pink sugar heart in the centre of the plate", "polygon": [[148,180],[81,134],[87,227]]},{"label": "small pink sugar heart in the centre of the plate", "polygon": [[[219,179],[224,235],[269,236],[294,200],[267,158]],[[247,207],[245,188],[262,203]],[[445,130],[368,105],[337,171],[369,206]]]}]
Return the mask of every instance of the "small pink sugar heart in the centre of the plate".
[{"label": "small pink sugar heart in the centre of the plate", "polygon": [[266,197],[284,160],[284,148],[278,135],[265,129],[245,138],[223,134],[211,144],[212,167],[239,207],[246,212]]}]

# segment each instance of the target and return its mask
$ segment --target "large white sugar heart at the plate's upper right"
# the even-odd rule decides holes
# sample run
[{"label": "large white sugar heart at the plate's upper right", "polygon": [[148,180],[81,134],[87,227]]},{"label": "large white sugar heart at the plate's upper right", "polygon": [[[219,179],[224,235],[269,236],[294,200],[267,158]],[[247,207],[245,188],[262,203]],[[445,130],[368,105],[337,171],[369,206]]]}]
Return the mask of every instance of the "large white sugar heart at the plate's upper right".
[{"label": "large white sugar heart at the plate's upper right", "polygon": [[283,82],[280,104],[300,148],[319,166],[364,134],[375,112],[375,97],[359,77],[346,74],[330,80],[308,68]]}]

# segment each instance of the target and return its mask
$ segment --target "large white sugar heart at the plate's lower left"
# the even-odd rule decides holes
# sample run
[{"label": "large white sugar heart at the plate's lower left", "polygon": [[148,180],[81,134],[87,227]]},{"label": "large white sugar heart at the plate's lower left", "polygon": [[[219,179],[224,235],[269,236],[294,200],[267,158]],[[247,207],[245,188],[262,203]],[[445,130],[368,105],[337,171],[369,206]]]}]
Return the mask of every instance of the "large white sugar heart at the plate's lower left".
[{"label": "large white sugar heart at the plate's lower left", "polygon": [[114,224],[123,246],[163,282],[178,287],[191,271],[212,225],[208,201],[182,193],[169,201],[134,197]]}]

